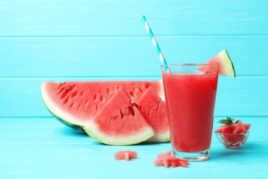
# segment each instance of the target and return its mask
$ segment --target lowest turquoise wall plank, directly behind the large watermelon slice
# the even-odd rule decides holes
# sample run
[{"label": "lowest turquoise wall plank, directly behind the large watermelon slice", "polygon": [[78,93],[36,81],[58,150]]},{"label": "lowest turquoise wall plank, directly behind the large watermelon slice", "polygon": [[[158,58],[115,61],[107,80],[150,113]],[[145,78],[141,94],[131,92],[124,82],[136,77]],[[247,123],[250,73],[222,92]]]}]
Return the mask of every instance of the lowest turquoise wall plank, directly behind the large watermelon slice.
[{"label": "lowest turquoise wall plank, directly behind the large watermelon slice", "polygon": [[[140,76],[136,78],[0,78],[0,117],[51,116],[41,98],[42,81],[100,81],[101,79],[148,80]],[[267,87],[267,76],[238,76],[236,78],[220,76],[215,116],[268,116]]]}]

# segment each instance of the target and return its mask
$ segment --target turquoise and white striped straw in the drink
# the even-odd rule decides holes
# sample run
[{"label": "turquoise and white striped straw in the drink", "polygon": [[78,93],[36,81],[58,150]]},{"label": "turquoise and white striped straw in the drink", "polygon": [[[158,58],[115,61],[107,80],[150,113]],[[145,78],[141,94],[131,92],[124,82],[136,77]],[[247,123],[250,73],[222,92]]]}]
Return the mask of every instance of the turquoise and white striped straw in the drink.
[{"label": "turquoise and white striped straw in the drink", "polygon": [[[142,16],[142,22],[144,23],[145,29],[146,29],[148,35],[150,36],[151,41],[153,42],[153,46],[155,47],[155,50],[157,51],[157,54],[159,56],[161,63],[163,65],[167,65],[168,63],[166,63],[166,59],[165,59],[163,53],[161,52],[161,49],[157,43],[157,40],[155,39],[155,36],[153,35],[153,31],[150,29],[150,25],[148,24],[148,21],[146,20],[145,16]],[[169,71],[169,69],[168,69],[168,71]]]}]

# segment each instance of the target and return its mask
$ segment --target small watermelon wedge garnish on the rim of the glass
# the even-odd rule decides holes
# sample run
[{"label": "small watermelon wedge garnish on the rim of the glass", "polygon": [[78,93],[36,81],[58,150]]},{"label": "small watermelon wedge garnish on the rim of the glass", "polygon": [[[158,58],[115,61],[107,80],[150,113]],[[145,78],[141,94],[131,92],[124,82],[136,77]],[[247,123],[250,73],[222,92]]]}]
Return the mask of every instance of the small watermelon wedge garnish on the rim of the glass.
[{"label": "small watermelon wedge garnish on the rim of the glass", "polygon": [[232,76],[232,77],[236,76],[236,73],[234,71],[234,65],[226,50],[223,50],[219,52],[219,54],[216,54],[207,63],[218,64],[218,74],[223,74],[225,76]]}]

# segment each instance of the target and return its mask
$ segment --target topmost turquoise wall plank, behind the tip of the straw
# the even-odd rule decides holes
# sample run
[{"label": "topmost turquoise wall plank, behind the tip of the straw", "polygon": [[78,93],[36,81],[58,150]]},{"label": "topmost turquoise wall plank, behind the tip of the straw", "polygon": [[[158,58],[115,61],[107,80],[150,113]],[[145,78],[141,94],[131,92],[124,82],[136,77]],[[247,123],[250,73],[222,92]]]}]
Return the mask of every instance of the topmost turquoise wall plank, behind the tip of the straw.
[{"label": "topmost turquoise wall plank, behind the tip of the straw", "polygon": [[3,0],[0,7],[1,36],[140,36],[143,14],[157,35],[268,32],[265,0]]}]

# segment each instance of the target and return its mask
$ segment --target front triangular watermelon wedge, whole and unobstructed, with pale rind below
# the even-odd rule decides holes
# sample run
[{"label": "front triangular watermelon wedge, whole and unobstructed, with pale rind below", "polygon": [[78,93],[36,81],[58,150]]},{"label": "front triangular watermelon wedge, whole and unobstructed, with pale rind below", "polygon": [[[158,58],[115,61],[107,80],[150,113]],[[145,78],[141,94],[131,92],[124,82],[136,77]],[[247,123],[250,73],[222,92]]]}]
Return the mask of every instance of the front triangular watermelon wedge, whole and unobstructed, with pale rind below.
[{"label": "front triangular watermelon wedge, whole and unobstructed, with pale rind below", "polygon": [[84,129],[91,138],[107,145],[133,145],[155,135],[124,87],[118,89]]}]

